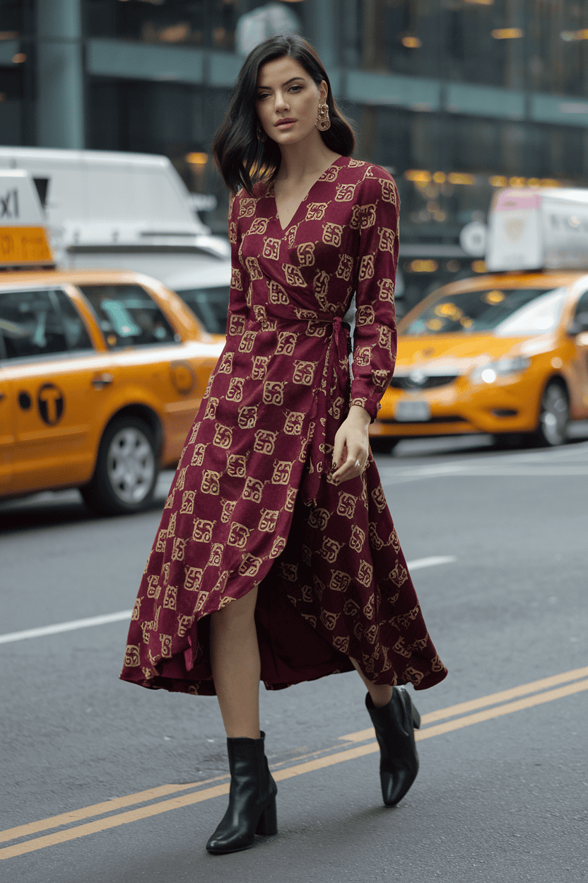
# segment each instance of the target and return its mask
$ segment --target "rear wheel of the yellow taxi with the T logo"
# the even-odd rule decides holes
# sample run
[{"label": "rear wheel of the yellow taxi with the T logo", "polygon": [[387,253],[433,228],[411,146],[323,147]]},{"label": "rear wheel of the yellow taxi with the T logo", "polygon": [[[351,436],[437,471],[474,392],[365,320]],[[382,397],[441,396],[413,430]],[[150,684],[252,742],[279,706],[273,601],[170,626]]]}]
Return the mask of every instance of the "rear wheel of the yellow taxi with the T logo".
[{"label": "rear wheel of the yellow taxi with the T logo", "polygon": [[93,479],[80,491],[100,515],[142,512],[153,500],[158,472],[152,430],[136,417],[121,417],[104,431]]}]

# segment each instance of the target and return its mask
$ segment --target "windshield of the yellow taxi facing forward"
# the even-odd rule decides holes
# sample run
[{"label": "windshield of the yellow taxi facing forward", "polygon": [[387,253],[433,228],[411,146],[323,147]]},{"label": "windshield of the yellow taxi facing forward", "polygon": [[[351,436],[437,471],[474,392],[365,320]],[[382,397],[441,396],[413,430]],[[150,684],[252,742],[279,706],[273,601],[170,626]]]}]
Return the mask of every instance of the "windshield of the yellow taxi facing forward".
[{"label": "windshield of the yellow taxi facing forward", "polygon": [[565,288],[460,291],[439,298],[403,333],[421,336],[491,331],[500,337],[547,334],[560,321],[565,296]]}]

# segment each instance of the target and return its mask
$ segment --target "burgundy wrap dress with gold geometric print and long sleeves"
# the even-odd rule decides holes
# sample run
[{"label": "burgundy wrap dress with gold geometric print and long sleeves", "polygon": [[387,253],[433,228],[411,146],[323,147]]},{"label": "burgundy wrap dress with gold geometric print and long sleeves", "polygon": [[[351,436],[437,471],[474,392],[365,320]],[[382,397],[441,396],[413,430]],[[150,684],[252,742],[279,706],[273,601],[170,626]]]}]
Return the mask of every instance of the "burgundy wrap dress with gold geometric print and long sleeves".
[{"label": "burgundy wrap dress with gold geometric print and long sleeves", "polygon": [[[447,674],[371,453],[333,483],[350,404],[372,419],[396,354],[398,192],[342,156],[283,230],[273,185],[229,213],[227,344],[167,497],[132,613],[123,680],[214,695],[210,614],[259,587],[270,690],[353,668],[422,690]],[[356,295],[353,380],[342,323]]]}]

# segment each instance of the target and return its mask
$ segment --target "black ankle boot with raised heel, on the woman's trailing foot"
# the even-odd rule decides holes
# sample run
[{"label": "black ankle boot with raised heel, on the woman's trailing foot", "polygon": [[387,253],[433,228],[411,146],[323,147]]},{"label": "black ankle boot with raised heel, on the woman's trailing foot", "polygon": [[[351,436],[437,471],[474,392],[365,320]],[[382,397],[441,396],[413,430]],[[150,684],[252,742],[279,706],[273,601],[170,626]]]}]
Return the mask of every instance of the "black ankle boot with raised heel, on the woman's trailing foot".
[{"label": "black ankle boot with raised heel, on the woman's trailing foot", "polygon": [[369,693],[366,708],[376,728],[380,745],[380,781],[383,802],[395,806],[406,795],[419,772],[419,756],[414,744],[414,728],[421,726],[421,715],[410,694],[394,687],[387,706],[376,708]]}]

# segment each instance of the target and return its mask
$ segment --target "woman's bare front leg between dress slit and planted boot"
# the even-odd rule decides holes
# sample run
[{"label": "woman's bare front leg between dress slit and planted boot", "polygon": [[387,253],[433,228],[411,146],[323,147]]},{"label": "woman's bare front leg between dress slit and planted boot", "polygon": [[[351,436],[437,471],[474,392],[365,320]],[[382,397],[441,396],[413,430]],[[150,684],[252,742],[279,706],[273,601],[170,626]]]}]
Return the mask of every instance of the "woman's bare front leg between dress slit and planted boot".
[{"label": "woman's bare front leg between dress slit and planted boot", "polygon": [[228,738],[260,738],[256,602],[257,587],[211,615],[212,679]]}]

